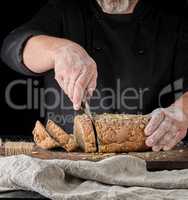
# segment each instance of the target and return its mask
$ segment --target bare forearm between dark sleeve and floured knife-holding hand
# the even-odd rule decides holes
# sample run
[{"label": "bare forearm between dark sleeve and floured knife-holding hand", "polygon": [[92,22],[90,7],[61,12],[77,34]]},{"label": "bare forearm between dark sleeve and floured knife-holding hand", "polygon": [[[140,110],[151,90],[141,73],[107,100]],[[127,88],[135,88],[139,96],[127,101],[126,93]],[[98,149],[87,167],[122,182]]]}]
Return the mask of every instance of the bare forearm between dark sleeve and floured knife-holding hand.
[{"label": "bare forearm between dark sleeve and floured knife-holding hand", "polygon": [[54,56],[58,48],[68,40],[45,35],[28,40],[23,51],[24,64],[35,73],[43,73],[54,68]]}]

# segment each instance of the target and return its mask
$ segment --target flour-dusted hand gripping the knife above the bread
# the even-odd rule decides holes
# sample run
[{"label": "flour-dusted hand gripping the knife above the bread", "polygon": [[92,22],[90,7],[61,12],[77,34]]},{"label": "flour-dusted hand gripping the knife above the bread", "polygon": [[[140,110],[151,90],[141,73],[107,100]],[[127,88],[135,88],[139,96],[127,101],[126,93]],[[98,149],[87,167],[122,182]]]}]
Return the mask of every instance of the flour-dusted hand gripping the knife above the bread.
[{"label": "flour-dusted hand gripping the knife above the bread", "polygon": [[67,41],[58,48],[54,59],[55,79],[79,110],[81,102],[92,96],[97,84],[95,61],[78,44]]}]

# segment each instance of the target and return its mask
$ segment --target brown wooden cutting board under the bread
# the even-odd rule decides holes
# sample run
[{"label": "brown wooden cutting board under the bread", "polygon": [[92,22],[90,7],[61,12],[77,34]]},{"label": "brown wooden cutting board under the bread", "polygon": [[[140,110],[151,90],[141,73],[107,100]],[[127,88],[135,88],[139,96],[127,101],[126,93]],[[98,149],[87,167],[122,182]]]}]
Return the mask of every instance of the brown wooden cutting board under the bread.
[{"label": "brown wooden cutting board under the bread", "polygon": [[156,170],[175,170],[188,169],[188,147],[179,147],[171,151],[161,152],[143,152],[128,154],[100,154],[100,153],[67,153],[62,151],[46,151],[35,148],[32,157],[41,159],[68,159],[68,160],[89,160],[100,161],[116,155],[132,155],[144,159],[147,163],[147,169]]}]

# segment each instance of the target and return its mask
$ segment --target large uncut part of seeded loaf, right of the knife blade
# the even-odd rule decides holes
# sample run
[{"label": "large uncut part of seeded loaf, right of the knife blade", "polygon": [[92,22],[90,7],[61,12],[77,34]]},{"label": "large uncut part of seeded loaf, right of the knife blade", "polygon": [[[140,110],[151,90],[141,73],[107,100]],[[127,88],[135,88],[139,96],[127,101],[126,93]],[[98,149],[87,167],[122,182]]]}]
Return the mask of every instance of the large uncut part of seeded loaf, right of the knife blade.
[{"label": "large uncut part of seeded loaf, right of the knife blade", "polygon": [[95,116],[100,153],[145,151],[144,129],[149,118],[143,115],[102,114]]}]

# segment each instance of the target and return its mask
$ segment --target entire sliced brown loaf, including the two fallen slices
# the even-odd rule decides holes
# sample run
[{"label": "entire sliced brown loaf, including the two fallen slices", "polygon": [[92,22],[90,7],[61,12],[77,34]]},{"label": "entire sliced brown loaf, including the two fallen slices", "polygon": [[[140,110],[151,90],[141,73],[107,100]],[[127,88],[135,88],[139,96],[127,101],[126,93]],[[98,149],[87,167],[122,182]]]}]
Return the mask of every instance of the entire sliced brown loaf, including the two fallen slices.
[{"label": "entire sliced brown loaf, including the two fallen slices", "polygon": [[34,141],[44,149],[63,147],[76,151],[78,147],[86,153],[124,153],[145,151],[144,129],[149,117],[143,115],[102,114],[94,116],[94,124],[86,115],[74,119],[74,135],[67,134],[56,123],[49,120],[46,129],[37,121],[33,130]]}]

